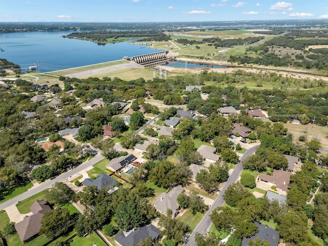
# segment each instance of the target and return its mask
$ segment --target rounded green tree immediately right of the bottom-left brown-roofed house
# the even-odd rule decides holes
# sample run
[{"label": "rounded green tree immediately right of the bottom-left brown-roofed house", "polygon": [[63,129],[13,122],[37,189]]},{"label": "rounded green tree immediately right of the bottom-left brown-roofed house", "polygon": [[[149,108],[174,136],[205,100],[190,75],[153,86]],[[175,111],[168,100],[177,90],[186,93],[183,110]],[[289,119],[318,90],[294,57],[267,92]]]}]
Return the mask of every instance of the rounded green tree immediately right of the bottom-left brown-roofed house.
[{"label": "rounded green tree immediately right of the bottom-left brown-roofed house", "polygon": [[47,211],[41,220],[40,234],[45,234],[48,238],[65,235],[73,226],[70,218],[70,212],[67,208],[55,208],[52,211]]}]

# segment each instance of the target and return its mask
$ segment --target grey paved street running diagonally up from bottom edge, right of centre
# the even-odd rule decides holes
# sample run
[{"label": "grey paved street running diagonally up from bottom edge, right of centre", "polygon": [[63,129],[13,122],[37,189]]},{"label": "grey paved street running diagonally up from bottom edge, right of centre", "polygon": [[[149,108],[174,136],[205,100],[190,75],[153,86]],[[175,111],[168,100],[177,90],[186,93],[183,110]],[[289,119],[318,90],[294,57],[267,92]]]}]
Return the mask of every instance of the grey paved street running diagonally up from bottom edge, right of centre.
[{"label": "grey paved street running diagonally up from bottom edge, right of centre", "polygon": [[[248,156],[254,154],[255,150],[258,148],[259,146],[254,146],[252,148],[250,148],[248,151],[246,151],[243,156],[240,158],[240,160],[244,160],[245,158],[247,158]],[[235,170],[232,172],[232,174],[230,175],[230,177],[228,178],[226,184],[223,186],[222,190],[220,191],[219,195],[217,196],[217,198],[215,199],[214,203],[212,204],[211,208],[209,209],[209,211],[206,213],[206,215],[204,215],[204,217],[202,218],[202,220],[199,222],[198,226],[195,228],[195,230],[193,231],[193,233],[190,235],[188,242],[183,244],[186,246],[196,246],[196,242],[195,242],[195,234],[196,232],[200,233],[200,234],[204,234],[206,233],[209,228],[212,225],[212,221],[210,218],[210,214],[212,214],[213,210],[217,207],[222,207],[224,204],[224,199],[223,199],[223,194],[224,191],[227,190],[228,186],[230,186],[232,183],[235,183],[238,179],[238,177],[241,174],[242,171],[242,164],[241,161],[236,165]]]}]

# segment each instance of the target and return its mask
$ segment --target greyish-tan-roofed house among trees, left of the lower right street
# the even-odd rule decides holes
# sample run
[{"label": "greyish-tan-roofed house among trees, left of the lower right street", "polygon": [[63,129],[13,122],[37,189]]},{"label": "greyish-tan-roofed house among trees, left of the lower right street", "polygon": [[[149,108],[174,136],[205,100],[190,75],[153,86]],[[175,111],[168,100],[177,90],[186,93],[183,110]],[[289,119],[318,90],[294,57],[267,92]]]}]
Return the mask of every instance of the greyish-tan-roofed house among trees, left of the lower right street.
[{"label": "greyish-tan-roofed house among trees, left of the lower right street", "polygon": [[168,209],[172,210],[172,216],[175,217],[179,211],[179,204],[176,198],[183,192],[182,186],[176,186],[168,193],[163,192],[156,198],[154,206],[159,213],[167,214]]}]

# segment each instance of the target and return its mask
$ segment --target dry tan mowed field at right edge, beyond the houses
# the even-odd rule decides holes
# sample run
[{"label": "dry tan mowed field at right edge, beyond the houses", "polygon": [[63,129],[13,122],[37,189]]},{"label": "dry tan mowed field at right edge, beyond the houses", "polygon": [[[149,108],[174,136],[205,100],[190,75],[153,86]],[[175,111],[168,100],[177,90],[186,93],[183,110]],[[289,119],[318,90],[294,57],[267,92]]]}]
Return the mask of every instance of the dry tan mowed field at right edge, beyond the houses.
[{"label": "dry tan mowed field at right edge, beyond the houses", "polygon": [[308,141],[312,139],[317,139],[320,141],[323,149],[328,149],[328,128],[320,127],[317,125],[297,125],[293,123],[286,123],[284,127],[288,129],[290,133],[293,134],[293,141],[301,144],[298,137],[301,135],[308,136]]}]

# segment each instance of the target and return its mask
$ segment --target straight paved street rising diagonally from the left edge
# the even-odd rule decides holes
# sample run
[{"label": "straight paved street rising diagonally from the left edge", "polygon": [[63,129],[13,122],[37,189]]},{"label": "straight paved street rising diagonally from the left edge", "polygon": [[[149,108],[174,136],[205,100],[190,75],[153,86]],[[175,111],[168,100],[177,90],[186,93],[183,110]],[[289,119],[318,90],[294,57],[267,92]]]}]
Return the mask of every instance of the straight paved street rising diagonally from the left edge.
[{"label": "straight paved street rising diagonally from the left edge", "polygon": [[76,167],[75,169],[72,169],[66,173],[62,173],[60,174],[59,176],[57,176],[56,178],[54,179],[49,179],[47,181],[45,181],[44,183],[42,183],[42,185],[40,186],[37,186],[35,188],[32,188],[30,189],[29,191],[21,194],[21,195],[18,195],[8,201],[5,201],[5,202],[2,202],[0,203],[0,210],[3,210],[3,209],[6,209],[8,208],[9,206],[12,206],[13,204],[16,204],[17,201],[22,201],[30,196],[33,196],[34,194],[40,192],[40,191],[43,191],[45,189],[48,189],[50,187],[52,187],[52,185],[55,183],[55,182],[63,182],[65,181],[66,179],[68,179],[70,176],[73,176],[74,174],[94,165],[95,163],[97,163],[99,160],[102,160],[104,159],[105,157],[102,156],[100,153],[98,153],[94,158],[92,158],[91,160],[89,161],[86,161],[84,163],[82,163],[80,166]]}]

